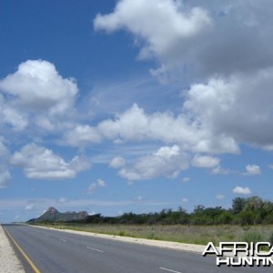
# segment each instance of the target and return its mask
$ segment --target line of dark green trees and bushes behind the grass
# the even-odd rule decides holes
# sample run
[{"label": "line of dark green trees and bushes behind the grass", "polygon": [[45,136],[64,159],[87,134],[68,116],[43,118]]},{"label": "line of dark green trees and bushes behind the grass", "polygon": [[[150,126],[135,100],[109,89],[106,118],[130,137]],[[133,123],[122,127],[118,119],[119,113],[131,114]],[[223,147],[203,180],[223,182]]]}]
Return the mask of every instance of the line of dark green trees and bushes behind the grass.
[{"label": "line of dark green trees and bushes behind the grass", "polygon": [[236,197],[232,207],[204,207],[198,205],[193,212],[178,207],[147,214],[124,213],[119,217],[104,217],[101,214],[88,216],[80,221],[86,224],[130,225],[258,225],[273,224],[273,203],[260,197]]}]

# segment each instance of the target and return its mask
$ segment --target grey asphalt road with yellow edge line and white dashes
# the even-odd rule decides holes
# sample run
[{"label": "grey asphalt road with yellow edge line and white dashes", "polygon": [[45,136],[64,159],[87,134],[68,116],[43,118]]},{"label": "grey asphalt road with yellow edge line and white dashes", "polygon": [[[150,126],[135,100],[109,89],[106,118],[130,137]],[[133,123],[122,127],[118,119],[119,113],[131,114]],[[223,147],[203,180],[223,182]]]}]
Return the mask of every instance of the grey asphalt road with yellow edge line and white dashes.
[{"label": "grey asphalt road with yellow edge line and white dashes", "polygon": [[[42,273],[272,272],[272,267],[218,268],[214,257],[52,229],[25,225],[5,225],[5,229]],[[33,272],[29,266],[25,269]]]}]

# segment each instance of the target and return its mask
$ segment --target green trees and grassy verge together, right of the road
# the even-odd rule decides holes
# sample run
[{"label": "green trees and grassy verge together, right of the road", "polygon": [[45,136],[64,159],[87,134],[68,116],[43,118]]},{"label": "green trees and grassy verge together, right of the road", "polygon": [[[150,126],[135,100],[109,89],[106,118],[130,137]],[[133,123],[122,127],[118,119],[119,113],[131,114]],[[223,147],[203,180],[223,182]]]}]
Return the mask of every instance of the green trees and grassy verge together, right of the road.
[{"label": "green trees and grassy verge together, right of the road", "polygon": [[237,197],[229,209],[198,205],[192,213],[178,207],[149,214],[129,212],[120,217],[96,214],[79,221],[44,221],[38,225],[201,245],[210,241],[273,243],[273,203],[260,197]]}]

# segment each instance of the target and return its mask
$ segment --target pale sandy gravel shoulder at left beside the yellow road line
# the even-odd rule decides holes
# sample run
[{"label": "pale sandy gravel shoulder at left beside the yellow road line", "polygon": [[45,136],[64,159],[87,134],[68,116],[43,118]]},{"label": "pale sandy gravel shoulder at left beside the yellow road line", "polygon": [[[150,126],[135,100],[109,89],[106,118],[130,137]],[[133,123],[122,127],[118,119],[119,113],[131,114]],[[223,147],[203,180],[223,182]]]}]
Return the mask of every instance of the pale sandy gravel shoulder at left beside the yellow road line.
[{"label": "pale sandy gravel shoulder at left beside the yellow road line", "polygon": [[15,255],[15,251],[5,236],[3,227],[0,225],[0,273],[23,273],[25,272],[21,262]]}]

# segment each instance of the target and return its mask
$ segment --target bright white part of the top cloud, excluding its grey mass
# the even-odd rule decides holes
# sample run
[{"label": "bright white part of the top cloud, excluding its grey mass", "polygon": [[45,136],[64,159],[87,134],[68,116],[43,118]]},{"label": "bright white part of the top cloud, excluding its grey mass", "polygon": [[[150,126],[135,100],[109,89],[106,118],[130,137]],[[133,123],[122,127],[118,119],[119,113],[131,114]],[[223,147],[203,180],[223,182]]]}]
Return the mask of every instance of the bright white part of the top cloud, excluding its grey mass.
[{"label": "bright white part of the top cloud, excluding its grey mass", "polygon": [[126,29],[136,35],[142,46],[140,58],[170,58],[177,53],[177,44],[183,45],[210,25],[205,9],[186,9],[181,1],[172,0],[121,0],[112,14],[96,15],[94,20],[96,30]]}]

